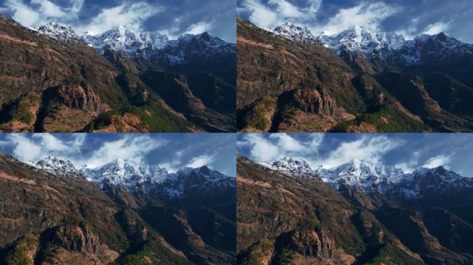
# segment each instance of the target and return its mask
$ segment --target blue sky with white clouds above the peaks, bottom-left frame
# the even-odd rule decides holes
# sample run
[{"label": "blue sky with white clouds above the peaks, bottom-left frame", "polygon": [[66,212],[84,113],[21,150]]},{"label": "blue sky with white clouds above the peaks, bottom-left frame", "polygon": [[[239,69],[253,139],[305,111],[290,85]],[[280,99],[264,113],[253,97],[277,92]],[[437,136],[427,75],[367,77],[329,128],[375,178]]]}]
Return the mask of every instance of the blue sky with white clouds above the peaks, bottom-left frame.
[{"label": "blue sky with white clouds above the peaks, bottom-left frame", "polygon": [[0,150],[21,161],[56,155],[77,167],[102,166],[118,158],[160,165],[170,172],[207,165],[236,176],[236,135],[217,133],[0,134]]}]

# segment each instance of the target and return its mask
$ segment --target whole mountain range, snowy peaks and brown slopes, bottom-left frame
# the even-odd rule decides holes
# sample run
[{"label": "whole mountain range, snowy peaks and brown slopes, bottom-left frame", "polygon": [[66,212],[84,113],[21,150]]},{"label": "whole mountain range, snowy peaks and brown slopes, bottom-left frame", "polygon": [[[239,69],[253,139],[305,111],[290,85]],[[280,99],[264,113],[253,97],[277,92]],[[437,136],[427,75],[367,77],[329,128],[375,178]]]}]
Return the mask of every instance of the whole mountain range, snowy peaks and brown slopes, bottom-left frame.
[{"label": "whole mountain range, snowy peaks and brown slopes, bottom-left frame", "polygon": [[1,153],[0,181],[1,264],[235,261],[236,181],[207,166],[76,168]]}]

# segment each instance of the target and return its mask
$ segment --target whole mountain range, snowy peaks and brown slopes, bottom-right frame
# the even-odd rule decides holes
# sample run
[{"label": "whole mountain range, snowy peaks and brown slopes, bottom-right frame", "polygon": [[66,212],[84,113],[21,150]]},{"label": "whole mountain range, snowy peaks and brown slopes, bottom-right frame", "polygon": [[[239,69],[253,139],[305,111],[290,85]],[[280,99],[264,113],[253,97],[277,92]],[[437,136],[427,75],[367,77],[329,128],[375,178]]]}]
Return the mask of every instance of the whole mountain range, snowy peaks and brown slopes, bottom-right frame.
[{"label": "whole mountain range, snowy peaks and brown slopes, bottom-right frame", "polygon": [[471,264],[473,180],[239,155],[237,264]]}]

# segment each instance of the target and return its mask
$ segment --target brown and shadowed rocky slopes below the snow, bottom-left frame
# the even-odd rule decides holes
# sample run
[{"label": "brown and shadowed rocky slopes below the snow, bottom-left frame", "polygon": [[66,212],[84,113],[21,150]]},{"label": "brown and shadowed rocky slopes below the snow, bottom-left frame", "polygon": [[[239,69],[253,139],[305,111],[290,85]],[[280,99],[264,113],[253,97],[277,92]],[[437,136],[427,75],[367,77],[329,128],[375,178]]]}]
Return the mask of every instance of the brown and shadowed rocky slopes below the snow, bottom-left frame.
[{"label": "brown and shadowed rocky slopes below the snow, bottom-left frame", "polygon": [[111,185],[102,191],[83,176],[0,153],[0,263],[231,264],[231,190],[208,195],[219,201],[201,194],[188,202]]}]

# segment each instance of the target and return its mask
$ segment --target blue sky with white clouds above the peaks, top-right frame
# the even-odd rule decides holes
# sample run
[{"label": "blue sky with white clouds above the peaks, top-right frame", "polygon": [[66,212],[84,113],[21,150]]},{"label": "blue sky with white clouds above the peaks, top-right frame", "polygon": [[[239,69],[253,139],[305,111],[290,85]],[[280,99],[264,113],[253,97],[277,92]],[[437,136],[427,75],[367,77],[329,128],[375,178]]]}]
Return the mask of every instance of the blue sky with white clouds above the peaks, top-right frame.
[{"label": "blue sky with white clouds above the peaks, top-right frame", "polygon": [[337,33],[351,26],[398,32],[447,35],[473,43],[471,0],[236,0],[237,13],[262,28],[284,21],[313,33]]}]

